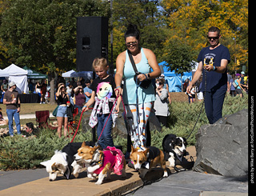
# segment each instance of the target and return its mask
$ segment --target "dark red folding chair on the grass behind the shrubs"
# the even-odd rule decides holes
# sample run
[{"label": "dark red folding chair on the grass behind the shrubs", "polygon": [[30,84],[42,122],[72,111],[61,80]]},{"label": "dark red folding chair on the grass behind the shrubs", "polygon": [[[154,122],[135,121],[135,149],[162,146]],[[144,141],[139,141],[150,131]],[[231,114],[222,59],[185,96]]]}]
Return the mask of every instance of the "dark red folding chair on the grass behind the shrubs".
[{"label": "dark red folding chair on the grass behind the shrubs", "polygon": [[57,130],[58,127],[50,126],[50,112],[49,110],[36,111],[35,119],[38,122],[38,128],[49,128],[50,130]]}]

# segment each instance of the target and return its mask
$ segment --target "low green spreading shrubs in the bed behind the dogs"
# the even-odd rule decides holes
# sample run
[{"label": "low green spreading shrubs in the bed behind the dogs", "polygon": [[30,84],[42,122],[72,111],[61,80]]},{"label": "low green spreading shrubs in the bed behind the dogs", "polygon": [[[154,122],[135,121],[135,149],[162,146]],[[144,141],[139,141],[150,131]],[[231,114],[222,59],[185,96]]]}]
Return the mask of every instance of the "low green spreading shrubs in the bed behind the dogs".
[{"label": "low green spreading shrubs in the bed behind the dogs", "polygon": [[[223,116],[226,114],[234,114],[239,110],[248,108],[247,95],[245,98],[226,97],[223,106]],[[187,137],[194,127],[194,123],[198,118],[201,110],[202,102],[189,104],[187,102],[172,102],[170,105],[170,116],[168,118],[169,127],[163,127],[161,132],[151,130],[151,146],[162,149],[162,139],[166,134],[176,134],[181,137]],[[205,110],[198,120],[198,125],[188,139],[190,145],[196,143],[195,134],[200,126],[207,124]],[[74,142],[91,141],[92,135],[90,131],[82,133],[78,131]],[[119,135],[113,135],[114,145],[122,146],[123,152],[126,152],[126,138]],[[37,138],[22,138],[15,136],[14,138],[0,138],[0,170],[17,170],[31,169],[40,167],[40,162],[49,159],[54,150],[62,150],[70,138],[58,138],[56,132],[52,130],[42,130]]]}]

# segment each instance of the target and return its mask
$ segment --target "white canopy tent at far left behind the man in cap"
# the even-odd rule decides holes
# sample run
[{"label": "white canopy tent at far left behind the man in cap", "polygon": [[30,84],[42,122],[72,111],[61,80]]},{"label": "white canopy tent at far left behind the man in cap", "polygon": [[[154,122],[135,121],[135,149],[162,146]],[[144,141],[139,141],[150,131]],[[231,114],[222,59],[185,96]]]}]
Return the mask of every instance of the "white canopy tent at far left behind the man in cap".
[{"label": "white canopy tent at far left behind the man in cap", "polygon": [[3,69],[3,71],[9,74],[9,82],[12,81],[16,83],[18,93],[27,93],[27,70],[23,70],[22,68],[11,64],[10,66],[7,66],[5,69]]}]

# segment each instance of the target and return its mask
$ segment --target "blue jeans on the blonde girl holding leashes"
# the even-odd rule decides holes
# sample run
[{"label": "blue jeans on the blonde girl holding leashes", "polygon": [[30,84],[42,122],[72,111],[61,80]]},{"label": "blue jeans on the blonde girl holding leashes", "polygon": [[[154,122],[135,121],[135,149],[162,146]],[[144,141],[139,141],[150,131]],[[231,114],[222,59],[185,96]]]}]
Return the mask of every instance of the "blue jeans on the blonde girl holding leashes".
[{"label": "blue jeans on the blonde girl holding leashes", "polygon": [[[109,120],[106,122],[106,119],[109,117],[109,114],[98,114],[98,126],[97,126],[97,135],[98,137],[102,133],[101,138],[98,140],[98,145],[102,146],[105,149],[107,146],[114,146],[113,138],[111,135],[112,132],[112,115],[110,115]],[[105,129],[102,131],[103,126],[105,125]]]}]

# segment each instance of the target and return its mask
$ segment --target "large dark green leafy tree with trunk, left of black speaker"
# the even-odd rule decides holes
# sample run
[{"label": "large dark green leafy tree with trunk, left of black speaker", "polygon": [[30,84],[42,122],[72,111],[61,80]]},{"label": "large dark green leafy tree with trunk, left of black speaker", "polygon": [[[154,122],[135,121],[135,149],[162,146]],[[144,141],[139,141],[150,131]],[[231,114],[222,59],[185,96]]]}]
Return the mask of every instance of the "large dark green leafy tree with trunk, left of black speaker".
[{"label": "large dark green leafy tree with trunk, left of black speaker", "polygon": [[2,12],[0,36],[11,61],[49,73],[51,102],[54,75],[75,67],[76,17],[109,16],[101,0],[13,0]]}]

